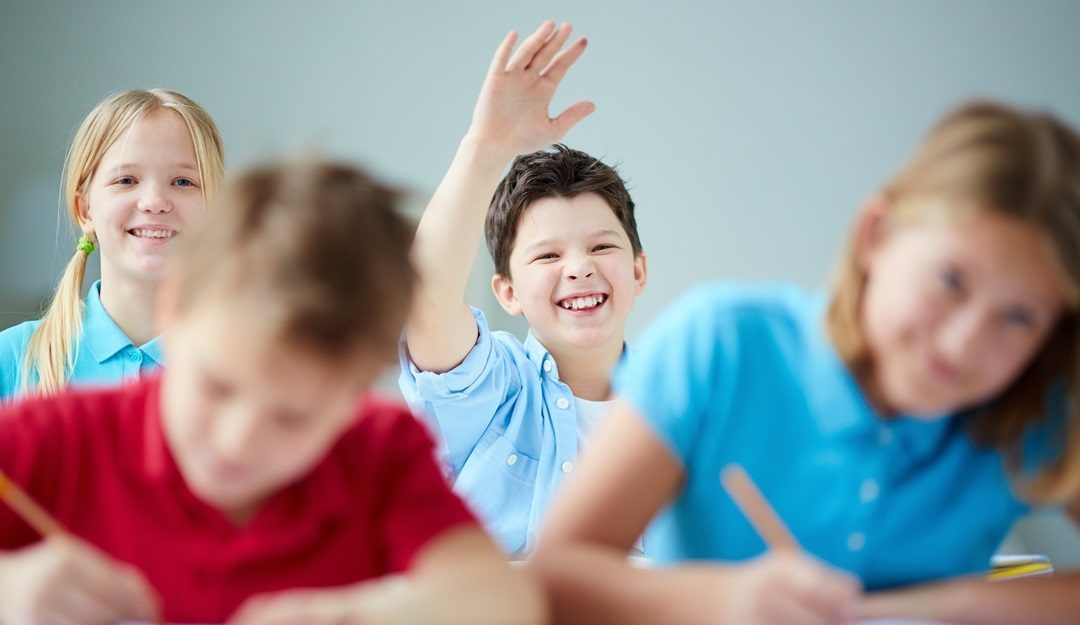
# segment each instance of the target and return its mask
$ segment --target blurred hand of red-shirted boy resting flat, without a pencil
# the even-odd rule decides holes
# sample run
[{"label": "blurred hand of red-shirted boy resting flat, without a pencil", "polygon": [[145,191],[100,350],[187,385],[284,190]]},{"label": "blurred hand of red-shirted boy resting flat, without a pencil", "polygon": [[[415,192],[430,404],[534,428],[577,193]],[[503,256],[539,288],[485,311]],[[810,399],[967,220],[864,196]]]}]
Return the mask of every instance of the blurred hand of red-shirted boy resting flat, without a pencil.
[{"label": "blurred hand of red-shirted boy resting flat, without a pencil", "polygon": [[[394,625],[415,623],[404,582],[383,579],[354,586],[284,590],[253,597],[229,625]],[[436,608],[437,609],[437,608]]]}]

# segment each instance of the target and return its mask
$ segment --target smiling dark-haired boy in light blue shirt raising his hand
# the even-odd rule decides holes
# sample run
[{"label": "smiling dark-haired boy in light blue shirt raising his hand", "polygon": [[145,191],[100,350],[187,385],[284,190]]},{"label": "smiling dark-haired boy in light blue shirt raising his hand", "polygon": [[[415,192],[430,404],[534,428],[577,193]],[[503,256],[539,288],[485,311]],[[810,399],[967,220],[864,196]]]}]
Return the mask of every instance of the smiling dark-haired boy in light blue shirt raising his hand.
[{"label": "smiling dark-haired boy in light blue shirt raising his hand", "polygon": [[[581,438],[606,410],[646,277],[619,174],[550,147],[594,109],[579,101],[549,117],[585,49],[580,39],[563,50],[569,36],[569,25],[548,22],[515,52],[513,32],[499,46],[417,231],[420,288],[403,350],[402,391],[433,423],[455,489],[517,555],[531,548]],[[482,231],[500,305],[529,324],[524,342],[491,331],[465,301]]]}]

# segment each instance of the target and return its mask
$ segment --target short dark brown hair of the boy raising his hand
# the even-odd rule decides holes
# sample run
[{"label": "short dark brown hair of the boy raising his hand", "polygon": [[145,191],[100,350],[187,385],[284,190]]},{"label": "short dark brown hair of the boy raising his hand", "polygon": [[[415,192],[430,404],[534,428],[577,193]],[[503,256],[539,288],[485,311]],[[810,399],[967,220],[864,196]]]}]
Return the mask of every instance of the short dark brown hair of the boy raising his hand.
[{"label": "short dark brown hair of the boy raising his hand", "polygon": [[517,237],[517,226],[534,202],[581,193],[596,193],[607,202],[626,231],[634,254],[640,254],[634,201],[630,199],[626,182],[599,159],[558,144],[518,157],[495,191],[484,234],[496,273],[510,276],[510,253]]}]

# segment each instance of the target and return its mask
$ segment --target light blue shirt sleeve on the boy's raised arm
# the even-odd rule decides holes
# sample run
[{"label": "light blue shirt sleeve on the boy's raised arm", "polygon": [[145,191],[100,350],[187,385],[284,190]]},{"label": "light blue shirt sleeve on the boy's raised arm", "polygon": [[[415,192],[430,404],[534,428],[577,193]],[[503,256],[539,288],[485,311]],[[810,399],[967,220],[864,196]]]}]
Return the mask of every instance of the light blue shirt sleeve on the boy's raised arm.
[{"label": "light blue shirt sleeve on the boy's raised arm", "polygon": [[454,369],[421,371],[408,358],[405,342],[399,350],[399,385],[414,412],[433,426],[440,453],[456,475],[508,397],[521,389],[521,378],[507,347],[496,340],[484,313],[476,318],[476,344]]}]

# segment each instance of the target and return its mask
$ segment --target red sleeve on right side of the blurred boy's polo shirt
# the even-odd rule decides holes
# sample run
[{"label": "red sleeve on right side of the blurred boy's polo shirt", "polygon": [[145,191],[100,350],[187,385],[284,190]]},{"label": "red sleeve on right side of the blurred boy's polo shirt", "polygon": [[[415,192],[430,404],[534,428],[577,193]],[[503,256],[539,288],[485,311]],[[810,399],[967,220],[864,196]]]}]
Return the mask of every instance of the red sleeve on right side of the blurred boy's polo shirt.
[{"label": "red sleeve on right side of the blurred boy's polo shirt", "polygon": [[380,470],[382,544],[391,571],[408,569],[416,555],[441,533],[476,521],[450,490],[432,456],[423,427],[404,413],[388,434]]}]

